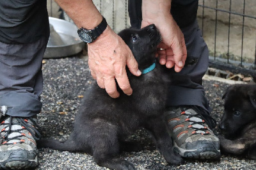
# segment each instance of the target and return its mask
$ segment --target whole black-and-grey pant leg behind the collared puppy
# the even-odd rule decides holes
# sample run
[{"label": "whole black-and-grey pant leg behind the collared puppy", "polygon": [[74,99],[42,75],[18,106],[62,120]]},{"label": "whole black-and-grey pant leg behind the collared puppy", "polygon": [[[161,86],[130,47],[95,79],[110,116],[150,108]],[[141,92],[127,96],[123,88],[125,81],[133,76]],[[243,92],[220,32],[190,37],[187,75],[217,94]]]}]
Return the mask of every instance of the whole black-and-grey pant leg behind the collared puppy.
[{"label": "whole black-and-grey pant leg behind the collared puppy", "polygon": [[[136,9],[134,9],[136,8]],[[140,8],[140,10],[138,10]],[[210,112],[207,98],[202,86],[202,77],[208,68],[209,52],[202,38],[201,31],[196,21],[198,1],[189,1],[188,4],[172,3],[171,13],[184,34],[188,58],[184,68],[175,73],[168,69],[172,77],[172,85],[168,89],[167,106],[198,105]],[[141,2],[129,0],[129,16],[131,26],[141,26]]]}]

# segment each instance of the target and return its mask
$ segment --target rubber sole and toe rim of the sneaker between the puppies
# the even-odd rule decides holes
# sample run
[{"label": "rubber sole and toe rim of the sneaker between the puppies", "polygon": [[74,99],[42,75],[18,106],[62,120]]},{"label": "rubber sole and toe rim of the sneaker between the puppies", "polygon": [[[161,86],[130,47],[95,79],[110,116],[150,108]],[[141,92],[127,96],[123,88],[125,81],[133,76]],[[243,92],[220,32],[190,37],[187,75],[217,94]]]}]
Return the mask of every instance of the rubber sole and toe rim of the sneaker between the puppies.
[{"label": "rubber sole and toe rim of the sneaker between the puppies", "polygon": [[184,150],[177,146],[175,141],[173,141],[173,150],[178,153],[181,157],[184,158],[193,158],[193,159],[219,159],[220,150],[209,144],[204,148],[199,148],[197,150]]}]

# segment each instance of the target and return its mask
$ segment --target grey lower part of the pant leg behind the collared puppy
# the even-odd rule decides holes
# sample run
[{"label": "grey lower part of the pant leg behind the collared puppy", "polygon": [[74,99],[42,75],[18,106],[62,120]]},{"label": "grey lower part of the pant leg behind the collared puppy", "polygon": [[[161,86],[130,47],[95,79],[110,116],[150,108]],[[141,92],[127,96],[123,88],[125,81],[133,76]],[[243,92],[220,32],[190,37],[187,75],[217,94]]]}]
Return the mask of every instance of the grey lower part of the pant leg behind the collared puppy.
[{"label": "grey lower part of the pant leg behind the collared puppy", "polygon": [[184,34],[188,57],[184,68],[179,72],[172,72],[172,85],[168,89],[168,106],[198,105],[210,112],[202,77],[208,68],[209,51],[198,23],[195,20],[188,27],[181,28]]}]

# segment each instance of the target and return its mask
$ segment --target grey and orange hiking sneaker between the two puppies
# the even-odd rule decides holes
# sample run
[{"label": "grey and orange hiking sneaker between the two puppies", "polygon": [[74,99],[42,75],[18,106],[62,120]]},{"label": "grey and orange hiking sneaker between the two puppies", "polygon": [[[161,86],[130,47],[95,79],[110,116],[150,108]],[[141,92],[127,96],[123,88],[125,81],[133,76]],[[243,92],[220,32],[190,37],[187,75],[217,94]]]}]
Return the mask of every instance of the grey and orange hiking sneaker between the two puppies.
[{"label": "grey and orange hiking sneaker between the two puppies", "polygon": [[170,107],[165,116],[176,153],[185,158],[220,158],[220,140],[211,130],[216,121],[204,109]]}]

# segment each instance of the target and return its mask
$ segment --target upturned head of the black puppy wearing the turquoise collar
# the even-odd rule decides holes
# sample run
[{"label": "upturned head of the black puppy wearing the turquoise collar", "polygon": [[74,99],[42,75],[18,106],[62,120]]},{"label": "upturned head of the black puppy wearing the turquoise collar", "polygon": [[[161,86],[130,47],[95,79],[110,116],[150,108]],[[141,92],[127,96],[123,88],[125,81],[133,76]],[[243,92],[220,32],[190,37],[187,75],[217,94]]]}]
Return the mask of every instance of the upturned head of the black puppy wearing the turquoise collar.
[{"label": "upturned head of the black puppy wearing the turquoise collar", "polygon": [[154,63],[157,45],[161,41],[159,31],[154,24],[142,29],[124,29],[118,35],[131,49],[140,70]]}]

